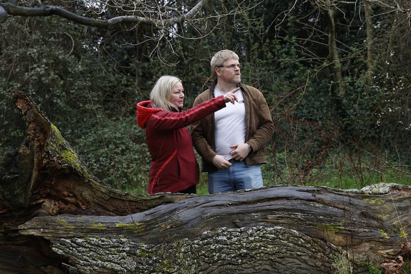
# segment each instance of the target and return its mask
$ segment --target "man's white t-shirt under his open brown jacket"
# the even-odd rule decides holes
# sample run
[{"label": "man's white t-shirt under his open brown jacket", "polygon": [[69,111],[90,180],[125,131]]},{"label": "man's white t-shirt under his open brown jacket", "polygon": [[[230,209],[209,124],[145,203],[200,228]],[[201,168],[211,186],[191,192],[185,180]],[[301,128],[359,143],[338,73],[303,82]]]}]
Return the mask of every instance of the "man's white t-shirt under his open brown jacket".
[{"label": "man's white t-shirt under his open brown jacket", "polygon": [[[217,88],[214,88],[214,96],[224,95]],[[226,157],[232,158],[230,152],[234,149],[230,145],[244,143],[246,138],[246,106],[241,89],[235,93],[238,102],[226,103],[226,107],[214,113],[215,118],[215,152]]]}]

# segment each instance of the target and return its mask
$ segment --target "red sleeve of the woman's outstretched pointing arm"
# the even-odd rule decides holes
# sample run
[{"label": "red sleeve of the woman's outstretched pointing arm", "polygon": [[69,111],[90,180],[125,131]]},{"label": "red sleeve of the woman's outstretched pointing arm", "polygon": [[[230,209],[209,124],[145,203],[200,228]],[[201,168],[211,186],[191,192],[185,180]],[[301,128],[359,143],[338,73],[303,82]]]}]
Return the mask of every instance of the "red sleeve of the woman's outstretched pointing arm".
[{"label": "red sleeve of the woman's outstretched pointing arm", "polygon": [[224,97],[219,96],[183,112],[156,112],[148,118],[146,124],[147,127],[152,126],[157,131],[176,130],[188,126],[225,106]]}]

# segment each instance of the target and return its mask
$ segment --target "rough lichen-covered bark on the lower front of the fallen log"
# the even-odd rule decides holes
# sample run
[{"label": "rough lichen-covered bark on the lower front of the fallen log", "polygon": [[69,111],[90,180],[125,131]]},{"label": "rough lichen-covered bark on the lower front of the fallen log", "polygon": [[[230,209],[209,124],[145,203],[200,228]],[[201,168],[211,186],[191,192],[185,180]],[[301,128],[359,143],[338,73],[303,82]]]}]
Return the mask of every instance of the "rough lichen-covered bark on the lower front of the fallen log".
[{"label": "rough lichen-covered bark on the lower front of the fallen log", "polygon": [[136,243],[123,237],[62,239],[53,250],[70,255],[82,273],[285,273],[328,271],[347,256],[329,242],[283,227],[221,227],[197,239]]}]

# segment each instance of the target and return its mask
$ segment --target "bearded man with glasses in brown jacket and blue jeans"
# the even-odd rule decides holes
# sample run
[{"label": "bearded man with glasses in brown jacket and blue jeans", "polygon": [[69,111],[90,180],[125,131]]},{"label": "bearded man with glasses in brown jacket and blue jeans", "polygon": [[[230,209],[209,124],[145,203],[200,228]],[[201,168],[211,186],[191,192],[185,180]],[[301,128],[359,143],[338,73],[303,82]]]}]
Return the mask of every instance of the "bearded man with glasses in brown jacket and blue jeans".
[{"label": "bearded man with glasses in brown jacket and blue jeans", "polygon": [[266,163],[264,147],[274,125],[264,95],[241,83],[238,55],[220,50],[211,59],[216,80],[194,100],[194,105],[226,94],[236,87],[238,103],[227,104],[192,124],[193,145],[208,172],[209,192],[219,193],[263,187],[260,165]]}]

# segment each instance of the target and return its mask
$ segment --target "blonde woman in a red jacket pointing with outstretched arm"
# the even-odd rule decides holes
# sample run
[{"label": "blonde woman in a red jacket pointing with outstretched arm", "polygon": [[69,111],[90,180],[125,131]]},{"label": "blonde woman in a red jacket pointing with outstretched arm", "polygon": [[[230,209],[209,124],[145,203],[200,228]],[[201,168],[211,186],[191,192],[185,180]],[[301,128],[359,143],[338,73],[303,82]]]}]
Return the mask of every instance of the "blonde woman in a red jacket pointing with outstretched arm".
[{"label": "blonde woman in a red jacket pointing with outstretched arm", "polygon": [[184,88],[174,76],[160,77],[150,93],[150,101],[137,104],[137,123],[145,129],[152,156],[148,193],[196,193],[198,163],[186,126],[238,101],[238,89],[181,111]]}]

